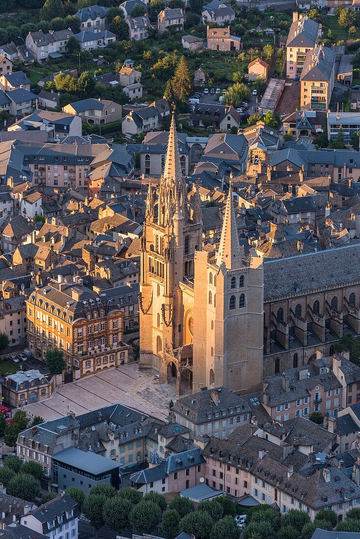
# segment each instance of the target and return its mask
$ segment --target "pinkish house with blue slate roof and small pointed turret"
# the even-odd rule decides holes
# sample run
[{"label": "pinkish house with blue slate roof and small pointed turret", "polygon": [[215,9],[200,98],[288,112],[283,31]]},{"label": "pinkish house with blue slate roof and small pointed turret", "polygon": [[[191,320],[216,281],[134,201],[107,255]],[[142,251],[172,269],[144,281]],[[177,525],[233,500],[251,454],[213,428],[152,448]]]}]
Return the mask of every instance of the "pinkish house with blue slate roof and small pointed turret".
[{"label": "pinkish house with blue slate roof and small pointed turret", "polygon": [[143,494],[148,492],[180,492],[198,484],[204,471],[205,459],[200,447],[176,454],[169,454],[161,459],[153,451],[148,460],[149,467],[130,476],[133,487]]}]

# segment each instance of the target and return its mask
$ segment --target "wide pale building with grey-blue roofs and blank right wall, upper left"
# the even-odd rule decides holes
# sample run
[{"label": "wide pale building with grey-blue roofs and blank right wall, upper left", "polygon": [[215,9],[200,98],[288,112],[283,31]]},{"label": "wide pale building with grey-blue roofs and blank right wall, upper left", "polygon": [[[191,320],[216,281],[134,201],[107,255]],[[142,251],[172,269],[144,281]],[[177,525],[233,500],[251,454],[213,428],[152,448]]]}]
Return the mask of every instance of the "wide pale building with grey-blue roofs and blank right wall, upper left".
[{"label": "wide pale building with grey-blue roofs and blank right wall, upper left", "polygon": [[71,113],[36,109],[8,127],[8,132],[14,133],[14,138],[18,132],[28,130],[45,131],[48,142],[57,142],[67,136],[81,136],[81,118]]}]

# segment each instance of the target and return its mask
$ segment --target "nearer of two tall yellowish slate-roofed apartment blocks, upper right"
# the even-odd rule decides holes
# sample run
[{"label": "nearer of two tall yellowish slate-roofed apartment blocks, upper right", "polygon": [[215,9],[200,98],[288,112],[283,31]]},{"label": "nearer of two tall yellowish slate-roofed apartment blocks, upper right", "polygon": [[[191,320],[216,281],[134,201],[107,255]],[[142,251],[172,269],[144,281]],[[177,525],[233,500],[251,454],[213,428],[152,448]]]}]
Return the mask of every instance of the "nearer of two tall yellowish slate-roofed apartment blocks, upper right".
[{"label": "nearer of two tall yellowish slate-roofed apartment blocks, upper right", "polygon": [[307,53],[301,73],[302,110],[328,110],[334,88],[336,53],[320,45]]}]

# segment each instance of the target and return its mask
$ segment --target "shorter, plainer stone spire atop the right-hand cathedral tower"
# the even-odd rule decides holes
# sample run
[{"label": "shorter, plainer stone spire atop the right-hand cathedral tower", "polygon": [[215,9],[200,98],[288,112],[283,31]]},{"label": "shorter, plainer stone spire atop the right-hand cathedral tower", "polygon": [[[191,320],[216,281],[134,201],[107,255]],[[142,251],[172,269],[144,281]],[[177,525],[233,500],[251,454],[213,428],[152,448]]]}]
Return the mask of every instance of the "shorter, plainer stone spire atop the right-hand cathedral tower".
[{"label": "shorter, plainer stone spire atop the right-hand cathedral tower", "polygon": [[239,269],[242,267],[231,186],[226,201],[219,250],[216,257],[218,266],[221,266],[222,262],[225,263],[226,269]]}]

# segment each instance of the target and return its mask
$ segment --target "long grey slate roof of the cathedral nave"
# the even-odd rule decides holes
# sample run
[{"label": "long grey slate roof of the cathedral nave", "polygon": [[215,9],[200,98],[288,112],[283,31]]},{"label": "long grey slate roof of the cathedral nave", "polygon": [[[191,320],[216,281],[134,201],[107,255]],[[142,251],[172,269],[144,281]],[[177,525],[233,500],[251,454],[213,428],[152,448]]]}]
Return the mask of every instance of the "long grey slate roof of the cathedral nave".
[{"label": "long grey slate roof of the cathedral nave", "polygon": [[264,301],[358,282],[359,257],[356,244],[281,260],[264,259]]}]

